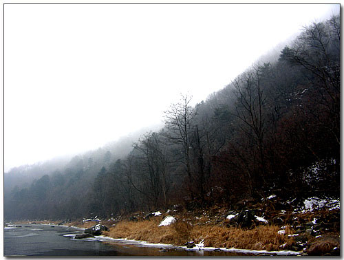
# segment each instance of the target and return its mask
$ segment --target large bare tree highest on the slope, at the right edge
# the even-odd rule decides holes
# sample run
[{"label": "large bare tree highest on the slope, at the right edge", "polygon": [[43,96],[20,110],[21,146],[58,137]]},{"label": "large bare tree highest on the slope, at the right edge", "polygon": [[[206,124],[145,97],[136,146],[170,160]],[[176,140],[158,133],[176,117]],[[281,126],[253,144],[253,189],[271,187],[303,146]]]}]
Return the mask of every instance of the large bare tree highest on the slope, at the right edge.
[{"label": "large bare tree highest on the slope, at the right edge", "polygon": [[310,72],[314,80],[312,91],[327,113],[331,124],[328,130],[340,144],[340,21],[332,17],[325,23],[313,23],[294,42],[285,48],[284,56],[292,64]]}]

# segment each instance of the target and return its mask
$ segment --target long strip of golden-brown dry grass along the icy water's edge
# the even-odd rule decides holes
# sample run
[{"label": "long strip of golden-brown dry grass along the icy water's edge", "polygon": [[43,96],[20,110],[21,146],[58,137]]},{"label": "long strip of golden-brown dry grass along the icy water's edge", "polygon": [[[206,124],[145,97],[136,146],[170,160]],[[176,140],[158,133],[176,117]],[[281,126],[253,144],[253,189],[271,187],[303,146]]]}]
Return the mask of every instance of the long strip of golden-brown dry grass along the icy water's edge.
[{"label": "long strip of golden-brown dry grass along the icy water's edge", "polygon": [[[151,221],[121,221],[110,228],[105,235],[114,238],[127,238],[149,241],[150,243],[171,243],[182,245],[186,241],[205,246],[242,248],[251,250],[286,250],[295,244],[293,230],[286,228],[285,235],[279,235],[278,226],[259,226],[251,230],[226,228],[222,226],[191,226],[186,221],[177,221],[170,226],[158,227],[160,219]],[[286,244],[283,248],[280,246]]]}]

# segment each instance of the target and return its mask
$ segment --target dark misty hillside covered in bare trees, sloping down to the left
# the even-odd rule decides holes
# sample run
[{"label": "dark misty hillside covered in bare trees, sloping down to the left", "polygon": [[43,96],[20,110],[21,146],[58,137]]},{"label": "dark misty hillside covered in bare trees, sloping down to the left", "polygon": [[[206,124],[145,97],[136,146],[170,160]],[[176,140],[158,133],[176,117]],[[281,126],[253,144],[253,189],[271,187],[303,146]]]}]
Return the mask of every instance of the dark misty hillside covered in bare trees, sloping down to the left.
[{"label": "dark misty hillside covered in bare trees, sloping down to the left", "polygon": [[[182,95],[164,127],[132,146],[12,169],[5,219],[231,207],[271,194],[339,197],[340,47],[339,16],[313,23],[278,60],[252,65],[207,100],[192,106]],[[36,179],[18,182],[25,171]],[[9,183],[17,186],[8,191]]]}]

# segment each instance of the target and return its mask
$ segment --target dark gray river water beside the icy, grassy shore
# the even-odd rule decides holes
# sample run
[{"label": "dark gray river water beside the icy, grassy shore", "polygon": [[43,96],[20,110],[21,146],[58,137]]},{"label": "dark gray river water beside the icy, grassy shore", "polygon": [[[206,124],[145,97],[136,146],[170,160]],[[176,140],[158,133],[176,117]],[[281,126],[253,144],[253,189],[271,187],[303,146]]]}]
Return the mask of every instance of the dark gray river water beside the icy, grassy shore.
[{"label": "dark gray river water beside the icy, grassy shore", "polygon": [[[230,252],[204,252],[147,248],[116,242],[87,241],[64,237],[83,231],[63,226],[39,224],[6,227],[3,230],[3,251],[8,256],[238,256]],[[247,254],[246,254],[247,255]]]}]

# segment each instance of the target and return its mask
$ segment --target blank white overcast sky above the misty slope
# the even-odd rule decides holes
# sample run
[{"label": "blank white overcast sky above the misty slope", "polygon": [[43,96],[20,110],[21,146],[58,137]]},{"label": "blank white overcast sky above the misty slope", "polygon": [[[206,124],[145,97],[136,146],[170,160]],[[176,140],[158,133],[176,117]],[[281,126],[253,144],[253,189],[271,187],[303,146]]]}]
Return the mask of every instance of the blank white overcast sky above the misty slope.
[{"label": "blank white overcast sky above the misty slope", "polygon": [[338,5],[6,5],[4,166],[162,124]]}]

